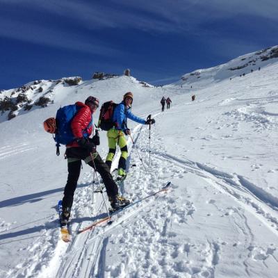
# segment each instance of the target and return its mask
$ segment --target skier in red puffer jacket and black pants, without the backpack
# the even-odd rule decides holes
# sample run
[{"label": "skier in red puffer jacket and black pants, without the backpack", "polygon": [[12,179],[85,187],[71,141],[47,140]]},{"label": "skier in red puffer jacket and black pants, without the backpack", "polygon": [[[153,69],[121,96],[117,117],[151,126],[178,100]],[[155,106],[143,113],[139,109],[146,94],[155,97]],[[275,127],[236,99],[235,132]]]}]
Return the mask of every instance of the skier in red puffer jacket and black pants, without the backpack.
[{"label": "skier in red puffer jacket and black pants, without the backpack", "polygon": [[124,199],[118,195],[117,184],[113,181],[108,166],[97,153],[96,145],[99,145],[98,134],[89,138],[94,126],[92,114],[95,113],[99,107],[99,100],[90,96],[85,100],[85,104],[76,102],[76,106],[78,107],[78,111],[74,115],[71,123],[72,133],[76,140],[66,145],[67,149],[65,152],[68,176],[63,197],[63,213],[60,219],[62,224],[67,224],[70,218],[74,191],[76,190],[77,181],[79,179],[82,160],[101,175],[112,208],[117,209],[120,206],[129,204],[128,199]]}]

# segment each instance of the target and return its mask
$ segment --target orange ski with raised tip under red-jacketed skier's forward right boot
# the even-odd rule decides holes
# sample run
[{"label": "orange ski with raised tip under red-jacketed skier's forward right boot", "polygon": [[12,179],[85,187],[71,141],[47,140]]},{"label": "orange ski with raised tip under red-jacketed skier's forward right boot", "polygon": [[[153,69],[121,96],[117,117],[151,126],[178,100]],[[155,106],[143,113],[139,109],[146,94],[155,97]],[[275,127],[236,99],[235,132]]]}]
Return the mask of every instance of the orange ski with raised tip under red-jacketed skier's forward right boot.
[{"label": "orange ski with raised tip under red-jacketed skier's forward right boot", "polygon": [[116,215],[117,213],[120,213],[121,211],[124,211],[126,208],[134,206],[135,204],[138,204],[139,202],[142,202],[145,199],[148,199],[149,197],[158,195],[158,193],[162,193],[162,192],[165,192],[165,191],[169,190],[170,189],[170,185],[171,185],[171,181],[168,181],[166,183],[166,185],[163,186],[163,188],[161,188],[160,190],[156,191],[155,193],[149,194],[146,197],[143,197],[142,199],[138,199],[136,202],[132,202],[132,203],[128,204],[127,206],[122,206],[122,207],[118,208],[117,210],[114,210],[113,208],[109,208],[109,211],[111,213],[110,217],[106,216],[105,218],[101,218],[97,222],[94,222],[93,224],[90,224],[88,227],[85,227],[84,229],[79,230],[77,232],[77,234],[81,234],[81,233],[83,233],[83,231],[91,230],[91,229],[99,226],[99,224],[104,224],[105,222],[107,222],[108,224],[111,224],[113,222],[113,220],[112,220],[112,216],[113,215]]}]

